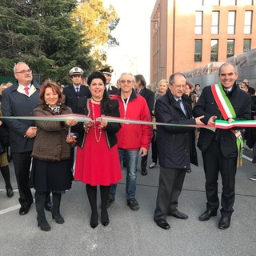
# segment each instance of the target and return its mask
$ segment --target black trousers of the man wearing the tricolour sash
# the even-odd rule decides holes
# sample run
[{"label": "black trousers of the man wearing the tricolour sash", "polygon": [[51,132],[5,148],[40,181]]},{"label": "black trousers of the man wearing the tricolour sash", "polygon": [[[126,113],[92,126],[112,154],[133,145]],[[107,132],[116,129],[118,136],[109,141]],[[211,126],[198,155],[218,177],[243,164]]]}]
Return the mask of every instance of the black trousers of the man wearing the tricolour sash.
[{"label": "black trousers of the man wearing the tricolour sash", "polygon": [[225,158],[219,142],[213,141],[202,153],[203,167],[206,175],[207,209],[218,209],[218,173],[222,177],[222,216],[230,217],[234,206],[234,185],[237,171],[237,158]]}]

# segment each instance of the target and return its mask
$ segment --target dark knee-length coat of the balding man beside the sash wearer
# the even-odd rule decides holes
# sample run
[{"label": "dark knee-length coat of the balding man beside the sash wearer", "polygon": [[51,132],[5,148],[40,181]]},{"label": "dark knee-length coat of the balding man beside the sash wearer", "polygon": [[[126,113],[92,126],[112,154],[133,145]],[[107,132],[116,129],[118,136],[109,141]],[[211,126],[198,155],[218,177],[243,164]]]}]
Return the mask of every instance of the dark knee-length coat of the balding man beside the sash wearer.
[{"label": "dark knee-length coat of the balding man beside the sash wearer", "polygon": [[[186,115],[170,90],[155,103],[154,114],[157,122],[179,125],[194,125],[192,108],[186,95],[182,96]],[[187,126],[158,126],[157,143],[159,165],[167,168],[190,169],[190,162],[198,165],[194,142],[194,128]]]}]

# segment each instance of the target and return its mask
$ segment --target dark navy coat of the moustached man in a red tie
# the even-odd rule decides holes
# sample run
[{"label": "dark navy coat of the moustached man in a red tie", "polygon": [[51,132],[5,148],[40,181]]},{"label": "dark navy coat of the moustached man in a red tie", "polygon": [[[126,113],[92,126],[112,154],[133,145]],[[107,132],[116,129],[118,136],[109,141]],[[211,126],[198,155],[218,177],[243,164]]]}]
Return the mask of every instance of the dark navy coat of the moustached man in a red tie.
[{"label": "dark navy coat of the moustached man in a red tie", "polygon": [[[34,109],[39,105],[40,87],[32,82],[36,91],[30,97],[18,92],[18,83],[2,92],[2,116],[33,116]],[[13,153],[32,151],[34,138],[26,138],[26,130],[36,126],[33,120],[5,119],[10,133],[10,150]]]}]

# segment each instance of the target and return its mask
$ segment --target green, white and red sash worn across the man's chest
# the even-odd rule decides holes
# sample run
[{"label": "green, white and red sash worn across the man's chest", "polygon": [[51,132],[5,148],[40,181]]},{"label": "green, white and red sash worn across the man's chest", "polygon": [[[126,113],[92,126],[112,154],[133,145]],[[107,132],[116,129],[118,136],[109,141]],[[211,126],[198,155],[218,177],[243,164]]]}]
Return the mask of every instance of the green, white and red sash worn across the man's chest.
[{"label": "green, white and red sash worn across the man's chest", "polygon": [[[230,99],[227,98],[226,93],[223,90],[222,84],[219,82],[218,84],[214,84],[214,85],[210,86],[210,88],[214,95],[214,100],[217,103],[218,108],[222,113],[222,117],[225,120],[228,118],[236,118],[234,108],[230,102]],[[218,121],[221,121],[221,120],[218,120]],[[220,124],[220,122],[219,122],[219,124]],[[236,126],[238,126],[237,123],[236,123]],[[230,129],[230,128],[226,128],[226,129]],[[234,133],[234,135],[236,137],[236,142],[237,142],[237,147],[238,147],[238,166],[242,166],[242,151],[243,151],[242,134],[241,134],[240,130],[234,130],[234,129],[230,129],[230,130]]]}]

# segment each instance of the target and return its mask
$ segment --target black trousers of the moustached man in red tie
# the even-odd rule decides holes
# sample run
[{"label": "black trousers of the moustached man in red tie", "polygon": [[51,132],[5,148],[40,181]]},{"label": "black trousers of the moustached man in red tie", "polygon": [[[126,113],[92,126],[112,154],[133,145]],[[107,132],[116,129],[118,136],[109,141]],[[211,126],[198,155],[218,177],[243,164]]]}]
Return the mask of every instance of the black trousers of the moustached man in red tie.
[{"label": "black trousers of the moustached man in red tie", "polygon": [[33,202],[28,182],[30,177],[31,152],[12,153],[15,176],[18,184],[18,193],[21,206],[30,205]]}]

